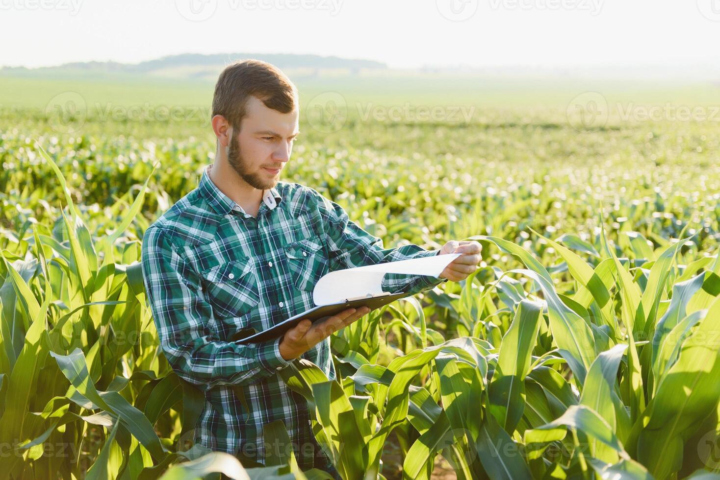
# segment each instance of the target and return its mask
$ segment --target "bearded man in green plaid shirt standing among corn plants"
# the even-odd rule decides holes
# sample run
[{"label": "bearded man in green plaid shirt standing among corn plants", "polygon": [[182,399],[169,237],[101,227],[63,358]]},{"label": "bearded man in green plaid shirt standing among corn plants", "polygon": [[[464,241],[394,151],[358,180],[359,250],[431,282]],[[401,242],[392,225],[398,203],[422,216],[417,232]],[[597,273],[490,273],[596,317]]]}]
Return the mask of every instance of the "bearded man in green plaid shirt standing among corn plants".
[{"label": "bearded man in green plaid shirt standing among corn plants", "polygon": [[279,182],[298,116],[297,89],[273,65],[248,60],[225,68],[212,101],[215,162],[196,189],[145,231],[143,274],[169,363],[205,394],[195,441],[246,464],[262,463],[263,426],[282,420],[300,468],[328,468],[305,399],[278,371],[302,357],[334,379],[329,336],[367,308],[312,326],[304,320],[276,341],[240,345],[237,339],[314,306],[312,289],[330,271],[462,254],[440,279],[387,275],[383,281],[384,291],[420,292],[466,278],[480,262],[480,244],[383,249],[382,240],[349,221],[337,203]]}]

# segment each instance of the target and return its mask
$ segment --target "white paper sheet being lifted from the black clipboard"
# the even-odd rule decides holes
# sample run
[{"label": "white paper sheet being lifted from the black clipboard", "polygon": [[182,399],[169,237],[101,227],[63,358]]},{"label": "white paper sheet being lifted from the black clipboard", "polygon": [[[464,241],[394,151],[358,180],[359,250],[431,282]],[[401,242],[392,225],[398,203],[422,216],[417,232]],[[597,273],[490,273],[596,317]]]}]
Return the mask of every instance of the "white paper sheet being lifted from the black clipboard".
[{"label": "white paper sheet being lifted from the black clipboard", "polygon": [[445,267],[460,254],[434,255],[418,259],[387,262],[366,267],[336,270],[324,275],[315,289],[312,300],[315,305],[339,303],[346,298],[382,294],[382,277],[386,273],[431,275],[438,277]]}]

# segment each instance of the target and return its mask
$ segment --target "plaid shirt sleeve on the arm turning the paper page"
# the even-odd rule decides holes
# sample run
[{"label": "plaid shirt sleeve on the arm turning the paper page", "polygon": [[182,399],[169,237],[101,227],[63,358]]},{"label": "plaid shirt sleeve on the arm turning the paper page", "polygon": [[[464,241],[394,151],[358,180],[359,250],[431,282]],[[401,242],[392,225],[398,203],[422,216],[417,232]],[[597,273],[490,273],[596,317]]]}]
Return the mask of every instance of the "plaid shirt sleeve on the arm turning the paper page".
[{"label": "plaid shirt sleeve on the arm turning the paper page", "polygon": [[[357,223],[351,221],[341,206],[320,193],[315,192],[315,194],[318,196],[318,208],[325,231],[325,244],[328,246],[330,271],[432,257],[440,253],[439,250],[426,250],[415,244],[385,249],[382,239],[369,234]],[[446,278],[432,275],[385,274],[382,280],[382,290],[391,293],[402,291],[415,294],[446,281]]]}]

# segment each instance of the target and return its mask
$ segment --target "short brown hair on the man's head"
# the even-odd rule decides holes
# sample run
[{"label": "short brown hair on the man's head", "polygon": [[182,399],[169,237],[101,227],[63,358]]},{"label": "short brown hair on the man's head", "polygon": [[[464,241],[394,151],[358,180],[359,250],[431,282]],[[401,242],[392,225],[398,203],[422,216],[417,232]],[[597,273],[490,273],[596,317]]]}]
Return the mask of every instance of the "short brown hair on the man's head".
[{"label": "short brown hair on the man's head", "polygon": [[225,67],[217,78],[212,116],[224,116],[238,131],[250,96],[281,114],[289,114],[297,105],[297,88],[279,68],[261,60],[243,60]]}]

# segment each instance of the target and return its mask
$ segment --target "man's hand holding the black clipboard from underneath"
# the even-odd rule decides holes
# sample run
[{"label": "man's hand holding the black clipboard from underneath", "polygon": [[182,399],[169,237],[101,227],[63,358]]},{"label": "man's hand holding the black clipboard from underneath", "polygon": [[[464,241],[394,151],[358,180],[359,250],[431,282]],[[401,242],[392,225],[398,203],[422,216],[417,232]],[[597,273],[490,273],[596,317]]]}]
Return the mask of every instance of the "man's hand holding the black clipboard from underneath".
[{"label": "man's hand holding the black clipboard from underneath", "polygon": [[300,320],[294,328],[287,331],[280,342],[280,355],[291,360],[312,349],[320,341],[325,340],[336,331],[344,328],[370,311],[367,307],[359,310],[348,308],[341,313],[312,325],[310,320]]}]

